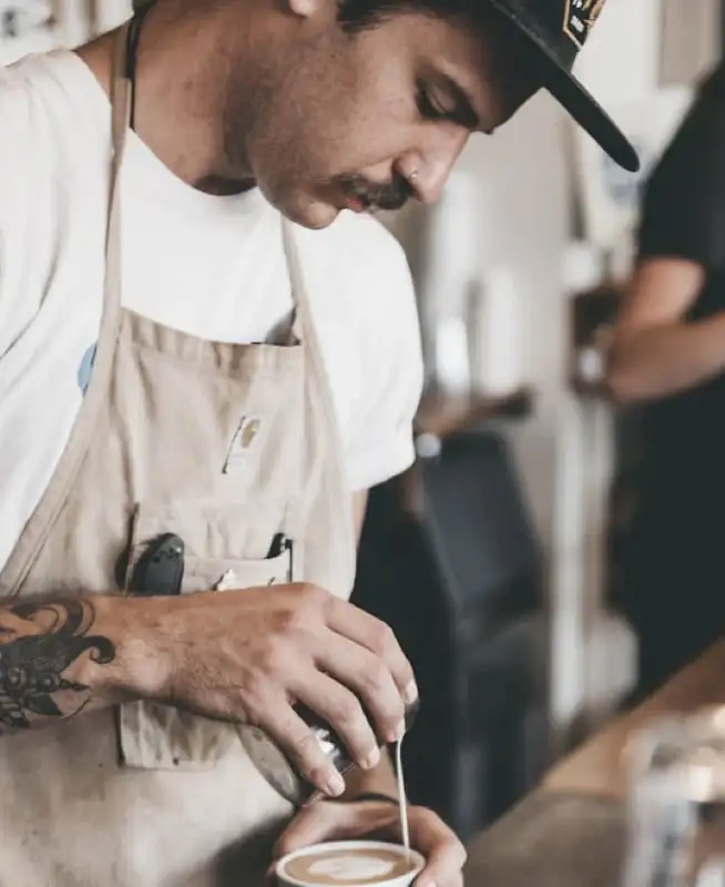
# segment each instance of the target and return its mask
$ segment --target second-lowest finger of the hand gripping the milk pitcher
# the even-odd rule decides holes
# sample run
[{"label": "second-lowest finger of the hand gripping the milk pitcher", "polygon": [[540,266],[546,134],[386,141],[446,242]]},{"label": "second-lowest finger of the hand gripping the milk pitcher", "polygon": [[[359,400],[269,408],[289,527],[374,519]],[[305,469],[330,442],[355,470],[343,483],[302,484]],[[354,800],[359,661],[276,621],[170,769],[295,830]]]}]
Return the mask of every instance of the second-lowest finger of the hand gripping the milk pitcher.
[{"label": "second-lowest finger of the hand gripping the milk pitcher", "polygon": [[378,742],[355,693],[323,672],[290,684],[289,690],[333,727],[359,767],[376,766],[380,761]]}]

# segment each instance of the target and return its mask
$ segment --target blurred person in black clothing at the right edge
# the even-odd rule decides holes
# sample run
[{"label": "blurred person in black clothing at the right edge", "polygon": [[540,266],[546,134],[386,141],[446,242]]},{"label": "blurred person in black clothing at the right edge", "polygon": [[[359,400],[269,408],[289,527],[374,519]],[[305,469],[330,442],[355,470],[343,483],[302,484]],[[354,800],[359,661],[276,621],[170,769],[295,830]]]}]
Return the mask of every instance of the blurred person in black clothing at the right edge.
[{"label": "blurred person in black clothing at the right edge", "polygon": [[645,694],[725,626],[725,68],[704,81],[646,184],[610,385],[642,405],[625,611]]}]

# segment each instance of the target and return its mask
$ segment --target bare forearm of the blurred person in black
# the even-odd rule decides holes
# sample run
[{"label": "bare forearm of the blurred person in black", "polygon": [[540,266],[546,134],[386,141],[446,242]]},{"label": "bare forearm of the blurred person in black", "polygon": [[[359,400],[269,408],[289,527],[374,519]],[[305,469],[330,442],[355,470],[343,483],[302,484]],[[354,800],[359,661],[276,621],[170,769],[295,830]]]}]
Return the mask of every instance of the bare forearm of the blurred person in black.
[{"label": "bare forearm of the blurred person in black", "polygon": [[663,324],[615,337],[607,381],[617,400],[684,391],[725,370],[725,314],[693,324]]}]

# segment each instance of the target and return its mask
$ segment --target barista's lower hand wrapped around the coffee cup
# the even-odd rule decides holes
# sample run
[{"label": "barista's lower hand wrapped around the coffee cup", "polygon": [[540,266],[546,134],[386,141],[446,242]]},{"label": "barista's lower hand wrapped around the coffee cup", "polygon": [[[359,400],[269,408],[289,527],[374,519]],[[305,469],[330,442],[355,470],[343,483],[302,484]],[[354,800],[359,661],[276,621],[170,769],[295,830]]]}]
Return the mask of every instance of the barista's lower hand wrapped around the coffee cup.
[{"label": "barista's lower hand wrapped around the coffee cup", "polygon": [[[410,844],[426,858],[416,887],[462,887],[466,850],[450,828],[425,807],[408,807]],[[400,813],[396,804],[364,801],[319,801],[292,820],[275,847],[275,861],[293,850],[327,840],[375,838],[400,843]]]}]

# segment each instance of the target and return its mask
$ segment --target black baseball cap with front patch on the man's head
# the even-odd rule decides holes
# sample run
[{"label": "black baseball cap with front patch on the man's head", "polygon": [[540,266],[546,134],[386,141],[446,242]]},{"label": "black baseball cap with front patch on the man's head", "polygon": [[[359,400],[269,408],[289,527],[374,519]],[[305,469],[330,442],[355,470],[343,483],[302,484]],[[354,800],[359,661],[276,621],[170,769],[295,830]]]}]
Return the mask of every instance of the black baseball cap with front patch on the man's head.
[{"label": "black baseball cap with front patch on the man's head", "polygon": [[543,86],[620,166],[640,169],[631,142],[572,74],[605,0],[489,0],[541,55]]}]

